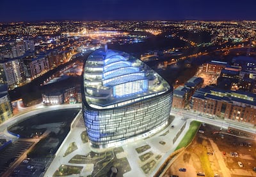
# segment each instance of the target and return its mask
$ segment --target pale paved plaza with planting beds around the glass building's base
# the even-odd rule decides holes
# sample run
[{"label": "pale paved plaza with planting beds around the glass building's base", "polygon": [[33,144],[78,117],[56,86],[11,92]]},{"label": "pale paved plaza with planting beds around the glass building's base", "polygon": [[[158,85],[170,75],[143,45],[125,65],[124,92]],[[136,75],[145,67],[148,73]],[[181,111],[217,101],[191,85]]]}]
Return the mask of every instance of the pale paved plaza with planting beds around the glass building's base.
[{"label": "pale paved plaza with planting beds around the glass building's base", "polygon": [[[164,160],[175,151],[175,148],[177,145],[179,145],[180,140],[188,131],[191,120],[184,120],[182,116],[173,113],[171,116],[174,117],[172,123],[165,129],[157,132],[157,134],[154,134],[150,137],[141,137],[136,141],[131,143],[124,143],[122,145],[122,151],[120,153],[116,153],[115,158],[120,159],[120,161],[127,159],[129,166],[131,167],[129,168],[131,169],[129,171],[124,169],[122,174],[123,176],[152,176],[163,164]],[[184,130],[180,131],[182,127]],[[82,113],[79,112],[71,125],[70,133],[63,141],[58,152],[56,152],[56,157],[52,161],[51,166],[49,166],[45,176],[54,176],[54,173],[56,173],[57,170],[60,170],[61,166],[83,167],[79,174],[73,174],[72,176],[88,176],[90,174],[93,174],[92,176],[98,175],[95,173],[95,171],[93,172],[95,161],[92,157],[90,157],[92,158],[91,164],[70,163],[70,159],[76,155],[81,155],[81,157],[85,158],[88,157],[88,154],[91,154],[92,152],[97,152],[99,156],[100,153],[104,153],[104,150],[103,152],[99,152],[99,150],[92,149],[88,142],[83,143],[81,134],[84,132],[84,130],[85,127]],[[180,133],[179,137],[177,136],[178,133]],[[76,149],[73,152],[67,154],[68,147],[74,144],[76,144]],[[108,150],[111,149],[107,149],[105,151]],[[122,170],[119,169],[119,171]],[[108,173],[108,171],[105,171],[105,173]]]}]

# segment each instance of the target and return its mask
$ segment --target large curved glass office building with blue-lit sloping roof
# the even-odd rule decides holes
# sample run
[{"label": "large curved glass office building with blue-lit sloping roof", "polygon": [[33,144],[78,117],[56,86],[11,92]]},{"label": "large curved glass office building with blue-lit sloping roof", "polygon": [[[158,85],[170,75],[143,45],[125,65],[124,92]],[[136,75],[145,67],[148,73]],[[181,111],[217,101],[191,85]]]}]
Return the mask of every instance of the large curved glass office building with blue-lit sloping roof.
[{"label": "large curved glass office building with blue-lit sloping roof", "polygon": [[97,50],[86,60],[83,115],[94,148],[147,137],[168,125],[173,87],[124,52]]}]

